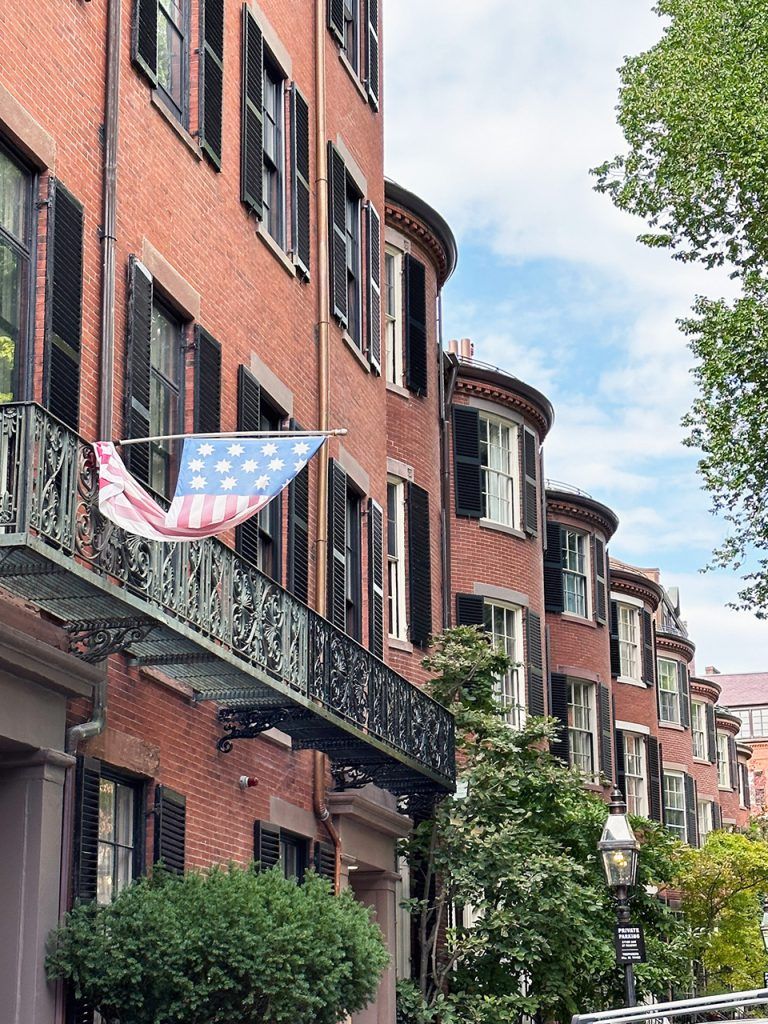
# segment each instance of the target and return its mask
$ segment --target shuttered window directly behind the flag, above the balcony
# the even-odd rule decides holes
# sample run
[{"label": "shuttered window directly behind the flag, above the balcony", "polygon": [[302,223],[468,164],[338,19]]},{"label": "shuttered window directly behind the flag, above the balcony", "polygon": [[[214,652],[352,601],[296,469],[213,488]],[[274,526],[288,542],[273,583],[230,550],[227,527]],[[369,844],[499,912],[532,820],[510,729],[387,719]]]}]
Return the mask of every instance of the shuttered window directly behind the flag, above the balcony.
[{"label": "shuttered window directly behind the flag, above the balcony", "polygon": [[[179,376],[183,325],[155,300],[150,343],[150,435],[179,433]],[[150,443],[150,485],[161,495],[170,495],[178,466],[177,441]]]}]

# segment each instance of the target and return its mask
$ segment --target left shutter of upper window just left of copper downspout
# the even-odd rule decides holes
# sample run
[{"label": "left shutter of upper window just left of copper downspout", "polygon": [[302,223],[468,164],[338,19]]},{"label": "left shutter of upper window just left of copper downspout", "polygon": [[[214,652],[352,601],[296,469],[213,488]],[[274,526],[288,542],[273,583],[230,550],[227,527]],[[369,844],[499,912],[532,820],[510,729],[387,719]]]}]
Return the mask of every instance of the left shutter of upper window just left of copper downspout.
[{"label": "left shutter of upper window just left of copper downspout", "polygon": [[257,217],[264,213],[264,40],[256,18],[243,4],[243,111],[240,197]]}]

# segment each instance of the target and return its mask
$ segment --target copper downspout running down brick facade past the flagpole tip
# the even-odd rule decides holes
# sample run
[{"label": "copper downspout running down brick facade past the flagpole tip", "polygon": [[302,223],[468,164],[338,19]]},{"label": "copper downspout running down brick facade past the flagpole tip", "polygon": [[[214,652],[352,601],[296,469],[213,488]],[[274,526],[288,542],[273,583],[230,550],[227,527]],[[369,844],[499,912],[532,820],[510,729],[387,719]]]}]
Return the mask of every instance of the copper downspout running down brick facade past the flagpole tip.
[{"label": "copper downspout running down brick facade past the flagpole tip", "polygon": [[[317,210],[317,427],[329,429],[330,389],[330,296],[328,279],[328,150],[326,148],[326,0],[315,2],[314,25],[314,202]],[[328,452],[321,449],[317,460],[317,540],[314,558],[314,607],[325,615],[328,574]],[[314,751],[314,813],[326,827],[335,853],[334,892],[341,888],[341,838],[326,804],[327,758]]]}]

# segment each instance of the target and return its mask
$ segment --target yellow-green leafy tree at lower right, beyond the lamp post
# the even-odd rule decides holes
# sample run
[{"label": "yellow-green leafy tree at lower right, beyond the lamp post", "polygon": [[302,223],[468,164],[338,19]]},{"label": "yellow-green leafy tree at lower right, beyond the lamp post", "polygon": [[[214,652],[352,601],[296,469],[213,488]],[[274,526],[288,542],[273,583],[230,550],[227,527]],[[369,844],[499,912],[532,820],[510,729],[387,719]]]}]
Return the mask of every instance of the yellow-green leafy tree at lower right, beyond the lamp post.
[{"label": "yellow-green leafy tree at lower right, beyond the lamp post", "polygon": [[677,884],[692,928],[691,954],[705,969],[708,989],[762,988],[768,843],[757,833],[712,833],[700,850],[683,852]]}]

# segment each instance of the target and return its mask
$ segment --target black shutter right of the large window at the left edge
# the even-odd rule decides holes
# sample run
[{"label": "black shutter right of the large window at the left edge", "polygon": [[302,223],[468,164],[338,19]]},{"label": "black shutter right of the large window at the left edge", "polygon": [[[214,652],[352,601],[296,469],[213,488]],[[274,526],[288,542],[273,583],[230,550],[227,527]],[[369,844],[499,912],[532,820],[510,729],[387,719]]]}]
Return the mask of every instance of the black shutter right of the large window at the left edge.
[{"label": "black shutter right of the large window at the left edge", "polygon": [[78,429],[83,325],[83,207],[58,181],[48,211],[44,404]]}]

